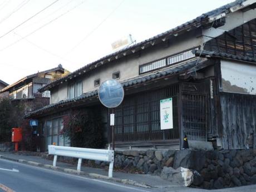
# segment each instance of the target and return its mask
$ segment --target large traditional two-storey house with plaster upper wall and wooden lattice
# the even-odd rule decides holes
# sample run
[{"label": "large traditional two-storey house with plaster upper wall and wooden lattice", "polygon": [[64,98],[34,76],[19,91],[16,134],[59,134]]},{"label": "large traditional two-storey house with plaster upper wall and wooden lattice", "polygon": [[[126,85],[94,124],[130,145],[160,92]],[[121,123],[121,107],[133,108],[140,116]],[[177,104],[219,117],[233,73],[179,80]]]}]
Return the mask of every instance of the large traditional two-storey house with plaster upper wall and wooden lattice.
[{"label": "large traditional two-storey house with plaster upper wall and wooden lattice", "polygon": [[[181,148],[186,135],[203,148],[255,148],[255,7],[255,0],[235,1],[43,86],[51,105],[26,116],[40,121],[42,147],[66,145],[63,117],[91,106],[104,115],[111,142],[110,110],[97,91],[114,78],[125,90],[115,109],[118,147]],[[160,102],[170,100],[173,126],[163,129]]]}]

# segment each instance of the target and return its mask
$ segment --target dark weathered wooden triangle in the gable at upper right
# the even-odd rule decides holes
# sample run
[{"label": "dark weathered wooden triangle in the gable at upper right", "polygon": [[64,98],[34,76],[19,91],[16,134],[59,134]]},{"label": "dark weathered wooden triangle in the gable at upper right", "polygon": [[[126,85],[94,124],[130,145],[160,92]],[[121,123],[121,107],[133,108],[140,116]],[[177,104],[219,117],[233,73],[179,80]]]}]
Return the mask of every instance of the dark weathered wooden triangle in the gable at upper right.
[{"label": "dark weathered wooden triangle in the gable at upper right", "polygon": [[204,49],[256,58],[256,19],[206,42]]}]

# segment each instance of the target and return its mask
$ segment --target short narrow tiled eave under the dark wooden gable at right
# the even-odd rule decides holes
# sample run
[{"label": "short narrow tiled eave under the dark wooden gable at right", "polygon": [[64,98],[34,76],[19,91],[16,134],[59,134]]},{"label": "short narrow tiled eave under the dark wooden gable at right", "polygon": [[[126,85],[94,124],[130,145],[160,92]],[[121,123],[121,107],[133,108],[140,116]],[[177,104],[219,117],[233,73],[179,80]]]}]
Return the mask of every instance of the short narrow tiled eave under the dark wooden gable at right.
[{"label": "short narrow tiled eave under the dark wooden gable at right", "polygon": [[195,50],[195,55],[200,57],[219,57],[219,58],[228,58],[232,60],[256,62],[256,58],[254,57],[239,56],[239,55],[233,55],[233,54],[216,52],[216,51],[204,50],[201,52],[201,50]]}]

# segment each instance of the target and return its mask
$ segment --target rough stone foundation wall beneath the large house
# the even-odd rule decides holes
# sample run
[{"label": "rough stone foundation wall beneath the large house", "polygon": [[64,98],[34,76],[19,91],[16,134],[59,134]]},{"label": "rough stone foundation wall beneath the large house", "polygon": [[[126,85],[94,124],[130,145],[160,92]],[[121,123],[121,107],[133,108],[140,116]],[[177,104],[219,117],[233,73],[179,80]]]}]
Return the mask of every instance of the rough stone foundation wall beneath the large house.
[{"label": "rough stone foundation wall beneath the large house", "polygon": [[256,184],[256,150],[115,151],[115,168],[137,169],[177,183],[183,180],[186,186],[228,188]]}]

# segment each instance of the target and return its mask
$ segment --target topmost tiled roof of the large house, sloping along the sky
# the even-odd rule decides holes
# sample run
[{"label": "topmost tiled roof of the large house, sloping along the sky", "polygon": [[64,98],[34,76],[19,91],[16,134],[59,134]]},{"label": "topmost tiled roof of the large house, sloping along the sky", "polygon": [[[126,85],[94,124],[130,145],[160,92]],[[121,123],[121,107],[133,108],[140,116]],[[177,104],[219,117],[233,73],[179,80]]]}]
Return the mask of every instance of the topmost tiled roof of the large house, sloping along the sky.
[{"label": "topmost tiled roof of the large house, sloping along the sky", "polygon": [[[201,14],[199,17],[196,17],[195,19],[192,19],[191,21],[181,24],[178,27],[170,29],[169,31],[166,31],[166,32],[156,35],[152,38],[149,38],[145,41],[136,43],[135,45],[124,48],[120,51],[117,51],[117,52],[107,55],[105,57],[102,57],[95,62],[89,63],[88,65],[70,73],[69,75],[67,75],[65,77],[59,78],[58,80],[48,83],[46,86],[38,89],[38,91],[40,91],[40,92],[46,91],[46,90],[58,85],[59,83],[61,83],[63,81],[71,80],[72,78],[75,78],[77,76],[82,75],[83,73],[91,71],[96,67],[105,65],[105,63],[108,63],[113,60],[118,60],[121,57],[125,57],[125,56],[135,53],[139,50],[144,50],[147,47],[154,46],[159,42],[168,40],[170,37],[180,35],[181,32],[188,32],[188,31],[191,31],[191,29],[193,29],[193,28],[198,28],[198,27],[204,26],[205,24],[212,23],[215,21],[215,19],[224,17],[225,14],[228,14],[230,12],[237,11],[238,9],[250,6],[250,3],[255,3],[254,0],[249,0],[248,2],[250,2],[250,3],[245,3],[245,2],[246,2],[245,0],[237,0],[232,3],[226,4],[225,6],[216,8],[213,11],[209,11],[204,14]],[[225,14],[223,14],[221,16],[220,14],[222,14],[222,13],[225,13]]]}]

